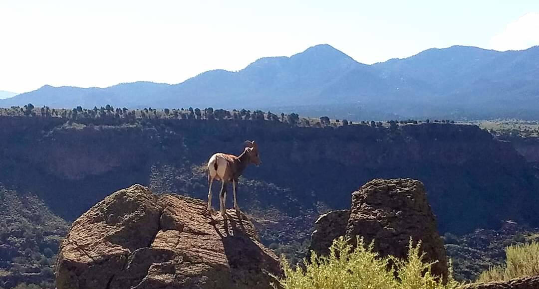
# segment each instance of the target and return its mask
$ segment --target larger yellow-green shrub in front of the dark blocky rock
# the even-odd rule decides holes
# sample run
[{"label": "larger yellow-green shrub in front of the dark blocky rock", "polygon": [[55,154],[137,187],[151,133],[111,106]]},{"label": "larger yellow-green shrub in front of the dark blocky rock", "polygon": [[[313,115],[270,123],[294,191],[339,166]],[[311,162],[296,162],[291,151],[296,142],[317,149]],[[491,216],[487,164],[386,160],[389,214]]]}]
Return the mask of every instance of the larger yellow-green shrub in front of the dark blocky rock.
[{"label": "larger yellow-green shrub in front of the dark blocky rock", "polygon": [[[275,277],[278,285],[285,289],[451,289],[461,286],[452,279],[446,285],[441,284],[432,275],[433,263],[423,262],[420,242],[414,246],[410,240],[407,260],[400,260],[392,256],[379,257],[374,251],[374,243],[365,246],[362,238],[357,239],[355,249],[348,241],[343,237],[335,239],[328,257],[312,252],[310,262],[303,260],[305,269],[301,266],[292,269],[282,258],[285,278]],[[277,284],[272,285],[278,288]]]}]

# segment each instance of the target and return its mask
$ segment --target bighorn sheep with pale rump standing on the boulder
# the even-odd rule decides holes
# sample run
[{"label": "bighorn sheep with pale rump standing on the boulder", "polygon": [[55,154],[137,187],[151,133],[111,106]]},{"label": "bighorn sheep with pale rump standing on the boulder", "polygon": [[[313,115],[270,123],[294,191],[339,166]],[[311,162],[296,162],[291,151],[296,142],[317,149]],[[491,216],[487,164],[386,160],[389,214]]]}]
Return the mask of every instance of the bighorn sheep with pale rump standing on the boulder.
[{"label": "bighorn sheep with pale rump standing on the boulder", "polygon": [[238,200],[236,199],[236,186],[238,185],[238,178],[245,170],[248,164],[260,165],[262,162],[258,156],[258,145],[254,143],[254,140],[245,140],[245,149],[239,156],[233,154],[226,154],[218,152],[211,156],[208,161],[208,211],[211,212],[211,185],[213,180],[217,179],[221,181],[221,191],[219,193],[219,204],[221,215],[225,217],[226,206],[226,186],[232,182],[232,191],[234,192],[234,209],[236,214],[240,217]]}]

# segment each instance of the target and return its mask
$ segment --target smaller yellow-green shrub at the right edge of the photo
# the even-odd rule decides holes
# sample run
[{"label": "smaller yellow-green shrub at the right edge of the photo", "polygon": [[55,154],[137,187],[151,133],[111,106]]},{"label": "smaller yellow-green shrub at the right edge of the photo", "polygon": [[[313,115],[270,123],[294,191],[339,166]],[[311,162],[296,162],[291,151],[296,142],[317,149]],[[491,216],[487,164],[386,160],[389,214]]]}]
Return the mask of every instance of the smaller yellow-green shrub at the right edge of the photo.
[{"label": "smaller yellow-green shrub at the right edge of the photo", "polygon": [[506,264],[482,272],[478,281],[502,281],[539,275],[539,242],[511,245],[505,251]]}]

